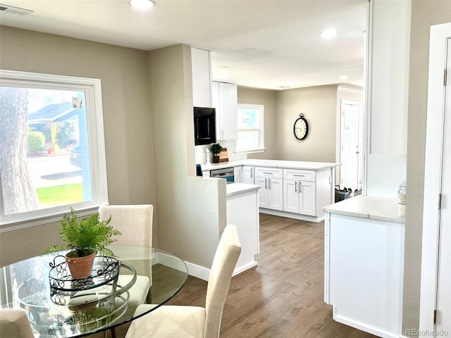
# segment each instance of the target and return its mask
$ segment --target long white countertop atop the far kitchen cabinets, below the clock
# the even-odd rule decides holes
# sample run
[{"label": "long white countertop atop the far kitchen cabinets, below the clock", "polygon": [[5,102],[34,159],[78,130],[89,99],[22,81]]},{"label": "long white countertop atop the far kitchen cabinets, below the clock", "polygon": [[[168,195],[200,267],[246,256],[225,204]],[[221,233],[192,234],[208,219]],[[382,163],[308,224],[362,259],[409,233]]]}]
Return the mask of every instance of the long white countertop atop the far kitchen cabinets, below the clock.
[{"label": "long white countertop atop the far kitchen cabinets, below the clock", "polygon": [[287,168],[287,169],[305,169],[305,170],[322,170],[332,168],[340,163],[328,162],[304,162],[304,161],[281,161],[281,160],[254,160],[245,159],[238,161],[228,161],[221,163],[202,164],[202,171],[209,171],[214,169],[223,169],[230,167],[237,167],[240,165],[251,165],[254,167],[271,167],[271,168]]}]

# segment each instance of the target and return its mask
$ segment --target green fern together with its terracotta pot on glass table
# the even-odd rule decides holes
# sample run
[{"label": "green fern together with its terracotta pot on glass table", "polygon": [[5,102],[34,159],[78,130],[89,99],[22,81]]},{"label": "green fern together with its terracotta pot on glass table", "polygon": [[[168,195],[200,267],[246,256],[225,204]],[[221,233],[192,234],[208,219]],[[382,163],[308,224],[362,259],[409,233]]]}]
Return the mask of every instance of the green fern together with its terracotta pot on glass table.
[{"label": "green fern together with its terracotta pot on glass table", "polygon": [[59,234],[63,242],[66,242],[66,247],[54,244],[44,253],[70,249],[66,253],[66,263],[72,277],[89,277],[97,253],[113,256],[108,246],[115,241],[112,237],[121,232],[110,226],[110,221],[111,217],[99,220],[99,213],[96,213],[79,223],[76,211],[70,208],[70,214],[63,216],[59,227]]}]

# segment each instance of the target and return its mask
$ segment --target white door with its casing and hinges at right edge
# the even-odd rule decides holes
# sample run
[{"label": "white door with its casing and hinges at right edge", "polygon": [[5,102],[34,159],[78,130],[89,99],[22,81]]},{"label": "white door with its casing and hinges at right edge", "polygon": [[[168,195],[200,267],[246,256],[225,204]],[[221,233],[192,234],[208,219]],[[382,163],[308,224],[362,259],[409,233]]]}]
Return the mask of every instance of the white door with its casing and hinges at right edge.
[{"label": "white door with its casing and hinges at right edge", "polygon": [[451,23],[431,26],[430,37],[419,327],[431,333],[419,337],[443,337],[451,332]]}]

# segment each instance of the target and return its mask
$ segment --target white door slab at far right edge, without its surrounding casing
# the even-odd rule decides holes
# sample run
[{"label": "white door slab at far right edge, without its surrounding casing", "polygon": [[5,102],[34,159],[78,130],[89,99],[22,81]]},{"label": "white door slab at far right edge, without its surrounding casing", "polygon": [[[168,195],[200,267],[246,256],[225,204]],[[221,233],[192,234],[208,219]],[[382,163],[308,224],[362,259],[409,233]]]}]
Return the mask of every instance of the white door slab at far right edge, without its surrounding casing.
[{"label": "white door slab at far right edge, without its surrounding casing", "polygon": [[451,38],[447,39],[446,68],[435,332],[451,333]]}]

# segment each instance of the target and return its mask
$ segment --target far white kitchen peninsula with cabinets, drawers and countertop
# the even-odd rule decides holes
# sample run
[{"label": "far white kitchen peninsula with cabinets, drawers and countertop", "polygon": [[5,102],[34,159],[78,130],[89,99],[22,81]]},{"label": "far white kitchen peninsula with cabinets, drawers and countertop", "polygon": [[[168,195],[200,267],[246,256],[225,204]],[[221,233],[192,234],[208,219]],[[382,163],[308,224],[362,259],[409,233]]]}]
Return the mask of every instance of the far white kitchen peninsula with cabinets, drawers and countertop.
[{"label": "far white kitchen peninsula with cabinets, drawers and countertop", "polygon": [[[319,223],[335,199],[339,163],[245,159],[203,164],[202,173],[233,168],[235,182],[260,187],[259,212]],[[229,184],[230,185],[230,184]]]}]

